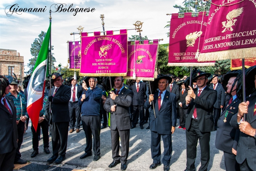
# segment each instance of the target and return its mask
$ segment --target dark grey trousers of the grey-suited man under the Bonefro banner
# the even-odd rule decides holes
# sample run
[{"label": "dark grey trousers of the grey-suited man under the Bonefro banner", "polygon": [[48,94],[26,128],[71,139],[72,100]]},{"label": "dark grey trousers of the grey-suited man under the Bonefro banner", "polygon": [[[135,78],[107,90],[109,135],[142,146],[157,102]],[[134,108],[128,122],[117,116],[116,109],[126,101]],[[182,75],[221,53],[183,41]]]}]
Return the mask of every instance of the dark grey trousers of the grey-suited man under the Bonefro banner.
[{"label": "dark grey trousers of the grey-suited man under the Bonefro banner", "polygon": [[[120,144],[119,137],[122,144],[121,156],[119,155]],[[112,145],[112,158],[113,161],[121,161],[122,164],[126,163],[129,154],[129,140],[130,140],[130,129],[115,130],[111,129],[111,145]]]}]

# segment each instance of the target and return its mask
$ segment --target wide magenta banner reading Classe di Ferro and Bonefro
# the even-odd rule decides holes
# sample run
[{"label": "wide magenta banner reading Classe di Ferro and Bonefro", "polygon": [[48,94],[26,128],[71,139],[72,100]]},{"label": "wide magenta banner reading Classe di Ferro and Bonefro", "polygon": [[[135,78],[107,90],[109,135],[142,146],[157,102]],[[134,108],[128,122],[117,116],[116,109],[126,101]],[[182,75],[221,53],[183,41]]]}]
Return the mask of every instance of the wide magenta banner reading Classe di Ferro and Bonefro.
[{"label": "wide magenta banner reading Classe di Ferro and Bonefro", "polygon": [[[127,30],[113,35],[94,32],[81,37],[81,76],[126,76],[127,75]],[[110,35],[112,33],[112,35]]]}]

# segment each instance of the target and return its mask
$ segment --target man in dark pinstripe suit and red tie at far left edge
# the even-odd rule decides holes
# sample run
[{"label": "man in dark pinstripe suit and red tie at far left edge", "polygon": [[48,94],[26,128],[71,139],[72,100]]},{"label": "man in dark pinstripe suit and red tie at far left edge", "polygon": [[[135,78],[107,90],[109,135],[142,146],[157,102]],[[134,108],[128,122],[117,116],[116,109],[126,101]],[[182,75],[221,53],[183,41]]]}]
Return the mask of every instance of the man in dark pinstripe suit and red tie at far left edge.
[{"label": "man in dark pinstripe suit and red tie at far left edge", "polygon": [[[11,77],[12,78],[12,77]],[[12,79],[9,79],[12,82]],[[10,82],[5,76],[0,76],[0,170],[12,171],[16,148],[18,147],[18,132],[16,124],[16,107],[9,93]]]}]

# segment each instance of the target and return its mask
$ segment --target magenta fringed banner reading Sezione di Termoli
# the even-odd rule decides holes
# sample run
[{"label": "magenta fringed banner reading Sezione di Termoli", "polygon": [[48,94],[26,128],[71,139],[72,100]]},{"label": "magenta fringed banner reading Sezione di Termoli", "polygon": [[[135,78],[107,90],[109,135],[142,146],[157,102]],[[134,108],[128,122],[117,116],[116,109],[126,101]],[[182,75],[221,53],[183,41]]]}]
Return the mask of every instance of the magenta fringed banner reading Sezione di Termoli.
[{"label": "magenta fringed banner reading Sezione di Termoli", "polygon": [[[144,43],[148,43],[148,41],[146,40]],[[154,81],[157,48],[158,43],[128,45],[128,69],[127,76],[124,78],[133,79],[133,71],[135,71],[136,79]]]}]

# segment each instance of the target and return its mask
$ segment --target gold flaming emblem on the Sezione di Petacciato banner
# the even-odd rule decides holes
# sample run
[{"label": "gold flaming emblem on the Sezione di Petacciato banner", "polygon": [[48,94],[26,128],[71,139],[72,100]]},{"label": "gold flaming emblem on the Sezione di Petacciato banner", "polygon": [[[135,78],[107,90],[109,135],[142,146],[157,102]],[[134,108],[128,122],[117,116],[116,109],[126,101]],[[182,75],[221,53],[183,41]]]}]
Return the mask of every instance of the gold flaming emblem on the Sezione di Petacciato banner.
[{"label": "gold flaming emblem on the Sezione di Petacciato banner", "polygon": [[232,28],[232,26],[234,26],[237,21],[237,19],[234,19],[234,18],[240,16],[240,14],[242,14],[243,11],[244,11],[243,7],[238,9],[233,9],[232,11],[230,11],[226,16],[227,21],[222,22],[222,25],[223,25],[222,28],[223,27],[225,28],[221,33],[224,33],[227,30],[233,31],[234,29]]}]

